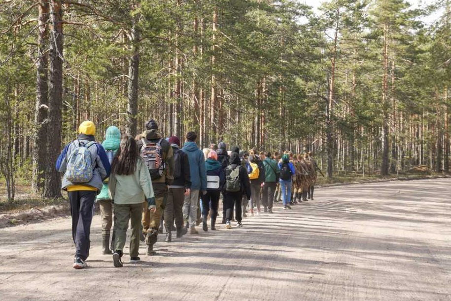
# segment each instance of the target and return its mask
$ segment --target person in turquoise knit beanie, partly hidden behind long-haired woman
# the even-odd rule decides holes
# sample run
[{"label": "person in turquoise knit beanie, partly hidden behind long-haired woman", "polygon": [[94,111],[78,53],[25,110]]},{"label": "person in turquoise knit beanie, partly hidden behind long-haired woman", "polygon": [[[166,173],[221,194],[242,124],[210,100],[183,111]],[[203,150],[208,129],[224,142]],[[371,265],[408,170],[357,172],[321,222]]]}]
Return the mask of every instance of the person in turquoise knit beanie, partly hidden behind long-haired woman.
[{"label": "person in turquoise knit beanie, partly hidden behind long-haired woman", "polygon": [[[105,132],[105,140],[102,142],[102,146],[106,151],[108,162],[111,164],[119,149],[121,143],[121,131],[114,125],[108,127]],[[114,248],[114,227],[111,237],[111,250],[109,237],[111,233],[111,226],[113,225],[113,200],[108,194],[108,179],[105,179],[102,190],[96,197],[96,201],[99,203],[100,219],[102,221],[102,254],[112,254]]]}]

